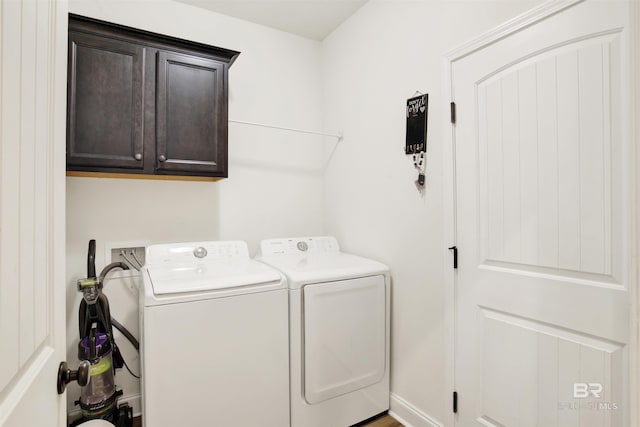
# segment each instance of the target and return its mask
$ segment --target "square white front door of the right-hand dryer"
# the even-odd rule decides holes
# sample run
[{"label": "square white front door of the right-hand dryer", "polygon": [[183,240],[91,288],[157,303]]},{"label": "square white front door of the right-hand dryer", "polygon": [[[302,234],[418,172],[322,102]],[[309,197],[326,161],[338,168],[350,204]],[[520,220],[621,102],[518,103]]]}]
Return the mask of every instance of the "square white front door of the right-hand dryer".
[{"label": "square white front door of the right-hand dryer", "polygon": [[304,287],[303,378],[308,403],[383,378],[385,306],[382,275]]}]

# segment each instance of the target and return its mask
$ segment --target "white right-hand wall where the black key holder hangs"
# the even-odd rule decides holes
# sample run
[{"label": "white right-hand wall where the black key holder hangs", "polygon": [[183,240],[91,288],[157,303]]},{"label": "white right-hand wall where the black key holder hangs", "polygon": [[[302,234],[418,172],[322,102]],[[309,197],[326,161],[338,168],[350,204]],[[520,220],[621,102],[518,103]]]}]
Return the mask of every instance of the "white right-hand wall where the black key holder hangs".
[{"label": "white right-hand wall where the black key holder hangs", "polygon": [[[392,270],[392,409],[445,424],[443,150],[449,102],[443,54],[539,1],[371,0],[322,45],[327,129],[343,129],[325,175],[325,227],[345,251]],[[403,153],[406,99],[429,94],[426,192]]]}]

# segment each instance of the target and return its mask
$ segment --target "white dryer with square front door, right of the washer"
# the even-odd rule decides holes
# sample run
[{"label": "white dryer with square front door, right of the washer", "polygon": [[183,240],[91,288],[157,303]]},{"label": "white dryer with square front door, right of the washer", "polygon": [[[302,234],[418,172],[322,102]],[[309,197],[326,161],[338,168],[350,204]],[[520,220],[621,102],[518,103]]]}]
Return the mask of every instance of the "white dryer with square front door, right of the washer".
[{"label": "white dryer with square front door, right of the washer", "polygon": [[343,427],[389,409],[389,269],[333,237],[263,240],[289,286],[291,426]]}]

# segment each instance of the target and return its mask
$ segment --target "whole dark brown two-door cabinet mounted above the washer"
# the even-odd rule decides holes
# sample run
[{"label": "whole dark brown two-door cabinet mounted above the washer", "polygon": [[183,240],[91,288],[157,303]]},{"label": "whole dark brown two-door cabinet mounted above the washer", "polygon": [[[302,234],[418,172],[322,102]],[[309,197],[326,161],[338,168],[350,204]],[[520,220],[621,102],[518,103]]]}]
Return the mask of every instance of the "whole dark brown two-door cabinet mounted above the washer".
[{"label": "whole dark brown two-door cabinet mounted above the washer", "polygon": [[70,15],[67,174],[226,177],[238,54]]}]

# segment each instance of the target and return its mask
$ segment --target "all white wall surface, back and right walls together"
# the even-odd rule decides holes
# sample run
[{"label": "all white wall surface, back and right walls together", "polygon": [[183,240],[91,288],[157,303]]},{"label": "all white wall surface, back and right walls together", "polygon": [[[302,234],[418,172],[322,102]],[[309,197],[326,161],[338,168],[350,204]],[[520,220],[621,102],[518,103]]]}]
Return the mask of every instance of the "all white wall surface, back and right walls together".
[{"label": "all white wall surface, back and right walls together", "polygon": [[[87,242],[104,244],[334,234],[393,273],[392,392],[418,420],[442,423],[445,315],[442,155],[448,144],[442,54],[536,1],[371,0],[322,44],[168,0],[73,0],[70,11],[241,51],[230,69],[230,119],[343,130],[336,143],[229,126],[229,179],[218,183],[67,178],[68,360],[76,360],[75,280]],[[405,101],[429,93],[424,197],[403,154]],[[323,120],[324,117],[324,120]],[[131,280],[106,284],[116,318],[137,334]],[[135,352],[117,338],[139,372]],[[127,395],[138,384],[126,372]],[[71,388],[69,406],[77,398]],[[397,404],[396,404],[397,409]],[[402,409],[402,408],[401,408]],[[420,418],[422,416],[422,418]],[[416,424],[417,425],[417,424]]]}]

